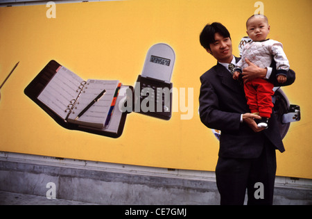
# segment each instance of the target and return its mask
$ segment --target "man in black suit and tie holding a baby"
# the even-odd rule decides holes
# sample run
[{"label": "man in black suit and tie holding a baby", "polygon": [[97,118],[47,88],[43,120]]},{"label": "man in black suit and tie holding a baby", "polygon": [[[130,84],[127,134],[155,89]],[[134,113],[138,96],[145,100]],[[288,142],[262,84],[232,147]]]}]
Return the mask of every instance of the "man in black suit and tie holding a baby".
[{"label": "man in black suit and tie holding a baby", "polygon": [[[202,123],[221,131],[216,165],[220,204],[243,204],[246,188],[248,204],[272,204],[275,149],[285,151],[277,119],[272,113],[269,128],[263,129],[254,121],[261,117],[249,113],[243,86],[232,78],[232,64],[235,65],[240,58],[232,54],[232,41],[225,26],[217,22],[207,24],[200,33],[200,44],[218,60],[200,76],[199,101]],[[286,83],[279,84],[274,68],[261,69],[248,63],[243,70],[245,81],[261,77],[275,86],[286,86],[295,81],[292,70],[287,72]]]}]

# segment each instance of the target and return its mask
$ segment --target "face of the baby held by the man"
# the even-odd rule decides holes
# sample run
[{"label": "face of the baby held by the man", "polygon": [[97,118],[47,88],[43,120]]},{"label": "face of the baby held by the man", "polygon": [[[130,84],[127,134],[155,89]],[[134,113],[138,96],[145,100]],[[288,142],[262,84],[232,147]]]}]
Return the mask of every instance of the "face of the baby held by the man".
[{"label": "face of the baby held by the man", "polygon": [[252,17],[247,23],[247,34],[254,41],[266,40],[270,33],[268,21],[261,15]]}]

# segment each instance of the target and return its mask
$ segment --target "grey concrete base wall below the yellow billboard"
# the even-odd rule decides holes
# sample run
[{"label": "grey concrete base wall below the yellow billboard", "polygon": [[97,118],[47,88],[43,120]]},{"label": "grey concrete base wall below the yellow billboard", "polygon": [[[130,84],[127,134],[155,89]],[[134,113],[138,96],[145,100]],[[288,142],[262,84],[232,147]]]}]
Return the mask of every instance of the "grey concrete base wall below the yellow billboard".
[{"label": "grey concrete base wall below the yellow billboard", "polygon": [[[94,204],[219,204],[214,172],[0,153],[0,190]],[[47,194],[48,193],[48,194]],[[274,204],[312,204],[310,179],[277,177]]]}]

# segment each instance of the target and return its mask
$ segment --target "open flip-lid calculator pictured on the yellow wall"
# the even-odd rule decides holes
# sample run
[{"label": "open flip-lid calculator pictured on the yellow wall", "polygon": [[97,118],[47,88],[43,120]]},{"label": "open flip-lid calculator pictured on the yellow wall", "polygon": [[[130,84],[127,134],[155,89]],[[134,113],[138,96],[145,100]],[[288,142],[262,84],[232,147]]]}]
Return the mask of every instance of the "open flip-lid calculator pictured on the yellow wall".
[{"label": "open flip-lid calculator pictured on the yellow wall", "polygon": [[142,73],[135,83],[137,113],[170,120],[174,63],[175,52],[168,44],[159,43],[150,47]]}]

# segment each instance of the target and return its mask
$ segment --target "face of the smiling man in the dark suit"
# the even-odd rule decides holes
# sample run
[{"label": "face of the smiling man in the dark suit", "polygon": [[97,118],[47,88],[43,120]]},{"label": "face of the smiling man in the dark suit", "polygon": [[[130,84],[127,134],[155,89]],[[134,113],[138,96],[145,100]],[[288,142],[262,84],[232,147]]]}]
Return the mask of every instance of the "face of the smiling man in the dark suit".
[{"label": "face of the smiling man in the dark suit", "polygon": [[214,56],[219,63],[231,63],[233,59],[231,39],[215,33],[214,40],[215,42],[209,44],[210,49],[207,49],[209,54]]}]

